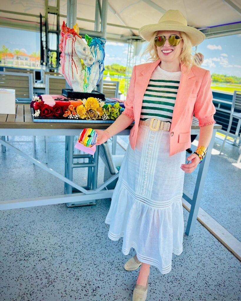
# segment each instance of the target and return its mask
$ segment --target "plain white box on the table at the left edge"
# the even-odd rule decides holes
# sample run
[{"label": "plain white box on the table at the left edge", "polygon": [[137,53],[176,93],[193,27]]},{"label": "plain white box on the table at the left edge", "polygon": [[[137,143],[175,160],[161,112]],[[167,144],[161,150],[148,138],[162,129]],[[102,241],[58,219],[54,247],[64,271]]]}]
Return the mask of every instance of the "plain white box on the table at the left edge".
[{"label": "plain white box on the table at the left edge", "polygon": [[0,89],[0,114],[15,114],[14,89]]}]

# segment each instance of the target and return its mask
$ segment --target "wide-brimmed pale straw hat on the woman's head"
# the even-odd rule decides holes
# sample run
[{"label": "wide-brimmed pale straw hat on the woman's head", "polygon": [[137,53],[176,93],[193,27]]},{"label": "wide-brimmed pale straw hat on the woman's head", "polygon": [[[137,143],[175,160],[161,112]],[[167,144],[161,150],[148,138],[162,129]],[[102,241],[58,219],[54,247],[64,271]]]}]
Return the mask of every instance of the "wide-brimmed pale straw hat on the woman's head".
[{"label": "wide-brimmed pale straw hat on the woman's head", "polygon": [[187,25],[187,20],[179,10],[169,9],[156,24],[142,26],[138,33],[146,41],[152,39],[155,31],[177,30],[184,31],[191,40],[192,46],[200,44],[205,38],[205,34],[200,30]]}]

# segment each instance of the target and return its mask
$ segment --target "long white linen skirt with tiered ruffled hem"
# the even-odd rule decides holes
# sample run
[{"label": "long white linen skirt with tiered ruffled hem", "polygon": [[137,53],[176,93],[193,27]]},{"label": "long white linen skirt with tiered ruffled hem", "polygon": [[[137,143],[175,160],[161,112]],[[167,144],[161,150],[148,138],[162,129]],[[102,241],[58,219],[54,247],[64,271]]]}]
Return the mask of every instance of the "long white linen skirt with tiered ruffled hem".
[{"label": "long white linen skirt with tiered ruffled hem", "polygon": [[108,237],[123,237],[122,252],[134,248],[137,258],[161,274],[171,271],[172,253],[183,251],[183,182],[186,151],[169,156],[168,131],[140,125],[136,147],[128,144],[109,212]]}]

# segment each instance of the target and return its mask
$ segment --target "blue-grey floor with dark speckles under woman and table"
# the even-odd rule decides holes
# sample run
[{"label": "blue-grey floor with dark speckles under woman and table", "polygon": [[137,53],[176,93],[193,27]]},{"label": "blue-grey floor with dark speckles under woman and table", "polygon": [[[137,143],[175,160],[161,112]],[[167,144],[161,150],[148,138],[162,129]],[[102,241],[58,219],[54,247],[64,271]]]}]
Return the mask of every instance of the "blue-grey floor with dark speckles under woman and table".
[{"label": "blue-grey floor with dark speckles under woman and table", "polygon": [[[51,139],[54,138],[63,140],[63,137]],[[128,141],[128,137],[121,138]],[[218,144],[220,140],[215,139],[214,148],[218,149]],[[31,143],[14,145],[32,154]],[[230,146],[226,144],[226,147],[229,151]],[[44,160],[43,151],[43,137],[37,137],[36,158]],[[121,153],[124,151],[117,146],[117,154]],[[9,150],[0,153],[1,200],[63,192],[62,181],[18,155],[10,161],[12,154]],[[232,154],[235,158],[235,150]],[[220,166],[225,165],[219,172],[215,170],[215,160],[222,162]],[[64,174],[63,143],[49,144],[49,162],[49,167]],[[233,169],[238,168],[225,158],[212,155],[201,207],[209,210],[209,214],[216,213],[211,216],[235,235],[240,233],[238,193],[225,192],[222,182],[225,170],[228,173],[226,187],[230,184],[233,189],[238,188],[236,180],[238,176],[240,179],[240,169],[234,172],[237,178],[231,178],[233,174],[229,172]],[[74,181],[85,185],[84,171],[74,169]],[[185,174],[188,177],[184,184],[188,183],[185,188],[189,187],[189,191],[196,179],[195,172]],[[216,172],[215,176],[212,172]],[[212,179],[217,175],[215,187]],[[102,181],[100,160],[98,184]],[[215,211],[217,204],[225,210],[225,215],[222,209]],[[132,300],[139,268],[127,272],[124,263],[135,250],[131,249],[130,254],[124,256],[122,238],[119,241],[108,238],[109,225],[105,224],[105,217],[109,206],[110,199],[104,199],[97,200],[93,206],[67,208],[65,204],[57,204],[0,211],[0,300]],[[183,212],[186,228],[189,213],[184,208]],[[169,274],[162,275],[151,267],[146,300],[240,300],[240,272],[240,262],[197,222],[193,236],[184,234],[183,253],[173,255]]]}]

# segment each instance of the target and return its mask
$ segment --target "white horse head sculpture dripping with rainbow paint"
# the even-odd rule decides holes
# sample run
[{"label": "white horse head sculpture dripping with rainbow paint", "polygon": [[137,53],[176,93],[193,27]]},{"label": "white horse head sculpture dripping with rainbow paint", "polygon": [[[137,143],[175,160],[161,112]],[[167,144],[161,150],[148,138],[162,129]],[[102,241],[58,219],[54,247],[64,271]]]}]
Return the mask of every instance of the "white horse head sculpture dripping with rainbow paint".
[{"label": "white horse head sculpture dripping with rainbow paint", "polygon": [[79,26],[71,29],[63,22],[59,49],[61,73],[75,92],[92,92],[101,79],[104,68],[104,38],[79,35]]}]

